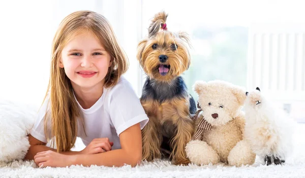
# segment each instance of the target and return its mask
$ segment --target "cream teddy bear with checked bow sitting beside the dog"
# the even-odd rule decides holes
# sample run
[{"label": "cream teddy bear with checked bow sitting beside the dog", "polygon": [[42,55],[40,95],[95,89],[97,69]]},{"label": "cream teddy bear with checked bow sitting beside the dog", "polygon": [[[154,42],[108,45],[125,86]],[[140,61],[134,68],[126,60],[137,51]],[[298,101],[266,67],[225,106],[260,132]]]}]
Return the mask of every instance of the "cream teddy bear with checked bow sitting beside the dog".
[{"label": "cream teddy bear with checked bow sitting beside the dog", "polygon": [[202,112],[194,121],[195,133],[186,146],[190,161],[197,165],[252,165],[256,155],[243,139],[245,114],[241,108],[246,91],[220,80],[196,81],[193,90]]}]

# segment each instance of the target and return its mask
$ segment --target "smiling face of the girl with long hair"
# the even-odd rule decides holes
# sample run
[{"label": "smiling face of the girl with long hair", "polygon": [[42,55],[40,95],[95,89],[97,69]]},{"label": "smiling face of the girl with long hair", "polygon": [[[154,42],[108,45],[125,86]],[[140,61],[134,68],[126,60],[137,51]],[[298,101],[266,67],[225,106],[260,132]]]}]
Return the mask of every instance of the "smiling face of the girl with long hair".
[{"label": "smiling face of the girl with long hair", "polygon": [[59,67],[71,80],[73,88],[103,87],[112,64],[110,54],[89,31],[78,33],[63,49]]}]

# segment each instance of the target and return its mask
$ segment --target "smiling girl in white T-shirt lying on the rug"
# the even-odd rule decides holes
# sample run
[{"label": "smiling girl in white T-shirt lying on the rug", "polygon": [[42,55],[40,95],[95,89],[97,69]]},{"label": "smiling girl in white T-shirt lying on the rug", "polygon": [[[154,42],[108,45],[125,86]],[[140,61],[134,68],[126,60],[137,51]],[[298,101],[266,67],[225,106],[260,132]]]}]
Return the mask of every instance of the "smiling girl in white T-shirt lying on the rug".
[{"label": "smiling girl in white T-shirt lying on the rug", "polygon": [[[127,68],[105,17],[91,11],[68,15],[53,40],[48,92],[25,159],[40,167],[135,166],[142,159],[141,129],[148,118],[121,77]],[[77,136],[86,148],[72,152]],[[46,147],[49,140],[57,150]]]}]

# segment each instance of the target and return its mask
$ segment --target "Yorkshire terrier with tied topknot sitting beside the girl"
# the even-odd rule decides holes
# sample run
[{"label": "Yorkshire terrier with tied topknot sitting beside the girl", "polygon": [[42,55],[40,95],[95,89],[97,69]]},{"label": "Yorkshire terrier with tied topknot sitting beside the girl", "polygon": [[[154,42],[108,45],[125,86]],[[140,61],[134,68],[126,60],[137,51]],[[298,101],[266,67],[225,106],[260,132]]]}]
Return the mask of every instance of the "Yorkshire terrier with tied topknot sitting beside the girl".
[{"label": "Yorkshire terrier with tied topknot sitting beside the girl", "polygon": [[142,158],[151,161],[166,155],[180,165],[190,163],[185,147],[194,133],[196,104],[180,76],[191,63],[190,40],[185,32],[167,30],[167,16],[165,12],[155,15],[148,38],[137,49],[137,59],[147,74],[140,98],[149,118],[142,130]]}]

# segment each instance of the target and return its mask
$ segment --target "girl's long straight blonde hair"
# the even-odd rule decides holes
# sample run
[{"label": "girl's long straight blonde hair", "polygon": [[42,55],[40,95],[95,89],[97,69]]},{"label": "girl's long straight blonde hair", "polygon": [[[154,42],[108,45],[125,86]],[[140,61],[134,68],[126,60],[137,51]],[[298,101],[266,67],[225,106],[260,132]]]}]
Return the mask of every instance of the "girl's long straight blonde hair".
[{"label": "girl's long straight blonde hair", "polygon": [[[60,23],[53,39],[50,80],[44,98],[45,100],[50,92],[50,117],[46,117],[44,129],[45,133],[48,133],[47,119],[51,118],[51,136],[55,136],[57,152],[70,151],[74,146],[77,137],[77,119],[82,119],[70,79],[66,76],[64,68],[58,65],[63,48],[81,30],[88,30],[96,35],[111,56],[112,65],[105,77],[105,87],[114,86],[128,69],[128,58],[118,45],[113,29],[104,16],[92,11],[77,11]],[[46,137],[49,140],[48,134]]]}]

